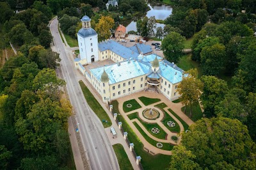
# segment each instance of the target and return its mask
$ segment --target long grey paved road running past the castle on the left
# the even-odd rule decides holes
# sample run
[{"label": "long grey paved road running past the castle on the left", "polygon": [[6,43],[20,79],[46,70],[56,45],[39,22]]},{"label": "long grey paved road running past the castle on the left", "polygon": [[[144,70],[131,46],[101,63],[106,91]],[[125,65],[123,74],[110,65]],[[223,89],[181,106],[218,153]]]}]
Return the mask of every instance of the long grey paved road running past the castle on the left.
[{"label": "long grey paved road running past the castle on the left", "polygon": [[79,133],[91,169],[120,169],[115,151],[111,146],[104,127],[96,114],[88,106],[76,77],[74,62],[68,59],[65,45],[58,32],[58,19],[50,25],[56,52],[60,54],[60,67],[67,82],[70,102],[76,112]]}]

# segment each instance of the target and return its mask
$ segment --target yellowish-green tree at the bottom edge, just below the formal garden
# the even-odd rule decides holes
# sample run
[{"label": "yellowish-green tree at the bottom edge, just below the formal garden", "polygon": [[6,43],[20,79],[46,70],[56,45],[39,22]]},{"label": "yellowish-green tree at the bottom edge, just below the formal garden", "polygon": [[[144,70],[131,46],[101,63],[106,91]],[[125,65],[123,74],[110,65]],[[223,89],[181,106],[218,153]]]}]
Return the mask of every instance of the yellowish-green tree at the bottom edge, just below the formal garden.
[{"label": "yellowish-green tree at the bottom edge, just below the formal garden", "polygon": [[199,165],[193,161],[195,158],[196,156],[184,146],[174,146],[169,169],[199,169]]}]

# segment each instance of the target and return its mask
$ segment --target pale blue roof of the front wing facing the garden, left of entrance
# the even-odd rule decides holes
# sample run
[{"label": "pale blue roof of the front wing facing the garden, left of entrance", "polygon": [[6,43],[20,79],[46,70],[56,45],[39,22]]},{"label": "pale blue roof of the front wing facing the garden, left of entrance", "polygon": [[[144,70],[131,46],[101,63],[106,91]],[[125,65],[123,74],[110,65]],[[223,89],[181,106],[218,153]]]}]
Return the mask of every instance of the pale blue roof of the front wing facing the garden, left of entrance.
[{"label": "pale blue roof of the front wing facing the garden, left of entrance", "polygon": [[134,77],[145,75],[151,70],[150,66],[131,60],[122,61],[120,63],[115,63],[114,65],[100,68],[93,68],[90,71],[98,80],[100,80],[103,68],[105,68],[105,72],[108,74],[109,84],[115,84],[116,82],[122,82]]}]

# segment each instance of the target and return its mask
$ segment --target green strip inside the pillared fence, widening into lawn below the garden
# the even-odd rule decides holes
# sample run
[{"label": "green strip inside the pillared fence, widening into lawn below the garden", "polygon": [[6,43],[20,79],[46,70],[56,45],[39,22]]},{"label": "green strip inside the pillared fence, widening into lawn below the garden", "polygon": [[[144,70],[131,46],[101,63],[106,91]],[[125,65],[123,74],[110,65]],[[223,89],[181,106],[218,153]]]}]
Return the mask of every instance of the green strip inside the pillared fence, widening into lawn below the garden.
[{"label": "green strip inside the pillared fence, widening into lawn below the garden", "polygon": [[[116,100],[112,101],[111,104],[113,105],[113,111],[118,111],[118,102]],[[134,143],[134,151],[137,155],[141,156],[141,165],[143,166],[143,169],[166,169],[170,167],[170,155],[151,155],[150,153],[147,153],[143,150],[143,143],[141,143],[140,139],[138,139],[138,136],[133,132],[132,128],[128,125],[128,123],[124,120],[122,115],[118,115],[118,120],[122,121],[122,127],[124,128],[125,132],[128,132],[128,139],[131,143]],[[154,160],[154,161],[152,161]]]}]

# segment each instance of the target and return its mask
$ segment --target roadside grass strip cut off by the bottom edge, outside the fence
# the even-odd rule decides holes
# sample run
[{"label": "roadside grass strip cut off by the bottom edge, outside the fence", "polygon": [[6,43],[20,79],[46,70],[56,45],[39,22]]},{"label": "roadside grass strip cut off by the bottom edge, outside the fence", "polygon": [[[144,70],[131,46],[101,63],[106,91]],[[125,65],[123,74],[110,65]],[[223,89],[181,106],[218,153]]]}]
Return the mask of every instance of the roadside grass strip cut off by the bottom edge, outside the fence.
[{"label": "roadside grass strip cut off by the bottom edge, outside the fence", "polygon": [[122,144],[114,144],[113,148],[116,153],[120,170],[132,170],[133,167],[124,150],[124,146],[122,146]]}]

